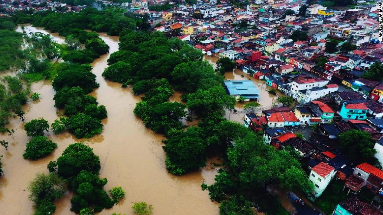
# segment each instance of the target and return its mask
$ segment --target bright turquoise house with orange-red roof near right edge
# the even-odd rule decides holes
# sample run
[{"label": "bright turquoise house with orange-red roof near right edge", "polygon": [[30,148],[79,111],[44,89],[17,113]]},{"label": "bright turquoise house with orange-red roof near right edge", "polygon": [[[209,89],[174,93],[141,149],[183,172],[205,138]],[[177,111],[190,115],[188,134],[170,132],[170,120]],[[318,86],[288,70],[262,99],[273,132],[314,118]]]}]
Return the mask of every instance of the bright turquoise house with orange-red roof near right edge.
[{"label": "bright turquoise house with orange-red roof near right edge", "polygon": [[364,103],[348,104],[343,103],[339,115],[342,120],[349,121],[350,119],[365,120],[368,108]]}]

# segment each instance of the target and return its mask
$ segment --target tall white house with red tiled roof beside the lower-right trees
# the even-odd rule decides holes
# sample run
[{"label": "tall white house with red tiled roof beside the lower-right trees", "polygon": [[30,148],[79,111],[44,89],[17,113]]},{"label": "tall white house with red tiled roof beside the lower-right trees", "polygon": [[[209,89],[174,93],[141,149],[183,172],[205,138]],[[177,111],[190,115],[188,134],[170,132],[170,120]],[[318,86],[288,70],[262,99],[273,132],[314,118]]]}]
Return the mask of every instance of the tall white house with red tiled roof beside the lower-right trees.
[{"label": "tall white house with red tiled roof beside the lower-right trees", "polygon": [[311,169],[309,180],[314,184],[314,195],[319,197],[334,178],[336,171],[334,167],[321,162]]}]

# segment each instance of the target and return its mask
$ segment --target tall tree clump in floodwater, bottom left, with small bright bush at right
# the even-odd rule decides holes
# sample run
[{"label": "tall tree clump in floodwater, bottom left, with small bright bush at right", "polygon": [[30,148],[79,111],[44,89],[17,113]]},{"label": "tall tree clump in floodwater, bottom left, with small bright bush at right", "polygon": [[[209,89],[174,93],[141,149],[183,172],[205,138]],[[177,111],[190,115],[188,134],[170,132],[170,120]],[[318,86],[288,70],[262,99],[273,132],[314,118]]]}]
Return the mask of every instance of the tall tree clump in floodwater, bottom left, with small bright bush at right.
[{"label": "tall tree clump in floodwater, bottom left, with small bright bush at right", "polygon": [[[57,166],[57,167],[56,167]],[[70,200],[71,211],[80,213],[92,207],[94,212],[100,212],[103,208],[111,208],[124,196],[121,187],[113,188],[110,192],[113,199],[103,189],[108,182],[106,178],[100,179],[100,159],[93,153],[92,148],[82,143],[69,145],[57,162],[50,162],[48,169],[57,171],[57,175],[66,179],[68,188],[74,192]]]}]

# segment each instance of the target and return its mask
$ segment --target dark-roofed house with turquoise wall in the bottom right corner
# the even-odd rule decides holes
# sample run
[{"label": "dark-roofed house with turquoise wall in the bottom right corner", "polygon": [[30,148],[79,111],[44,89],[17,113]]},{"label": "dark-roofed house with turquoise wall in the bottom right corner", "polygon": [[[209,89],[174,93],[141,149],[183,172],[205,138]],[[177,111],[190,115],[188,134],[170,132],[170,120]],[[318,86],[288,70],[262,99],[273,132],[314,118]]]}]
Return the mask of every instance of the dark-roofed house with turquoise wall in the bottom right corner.
[{"label": "dark-roofed house with turquoise wall in the bottom right corner", "polygon": [[378,208],[363,202],[356,195],[351,195],[334,210],[334,215],[380,215]]}]

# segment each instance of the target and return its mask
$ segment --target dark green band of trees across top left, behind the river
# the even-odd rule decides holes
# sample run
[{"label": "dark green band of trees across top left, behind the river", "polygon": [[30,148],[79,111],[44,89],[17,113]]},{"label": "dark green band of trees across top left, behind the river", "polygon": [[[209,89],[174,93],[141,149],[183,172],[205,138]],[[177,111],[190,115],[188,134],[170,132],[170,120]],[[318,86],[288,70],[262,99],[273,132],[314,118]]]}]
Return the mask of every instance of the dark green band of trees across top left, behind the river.
[{"label": "dark green band of trees across top left, behind the river", "polygon": [[85,42],[84,29],[107,32],[109,35],[118,35],[123,29],[136,29],[136,27],[141,30],[149,29],[150,26],[146,23],[147,17],[123,13],[122,9],[98,11],[88,7],[78,13],[18,12],[12,16],[12,19],[16,23],[31,23],[34,26],[44,27],[51,32],[58,32],[61,36],[75,35],[80,42]]}]

